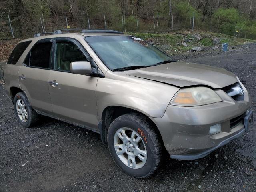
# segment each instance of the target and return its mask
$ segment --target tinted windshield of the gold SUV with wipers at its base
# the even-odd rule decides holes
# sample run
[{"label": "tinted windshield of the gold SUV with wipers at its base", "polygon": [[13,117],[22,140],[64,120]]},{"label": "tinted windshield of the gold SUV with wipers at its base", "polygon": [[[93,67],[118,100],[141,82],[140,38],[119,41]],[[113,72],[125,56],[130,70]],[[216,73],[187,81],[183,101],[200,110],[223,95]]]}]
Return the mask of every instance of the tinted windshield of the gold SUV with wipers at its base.
[{"label": "tinted windshield of the gold SUV with wipers at its base", "polygon": [[111,70],[175,61],[151,44],[132,36],[89,36],[85,40]]}]

